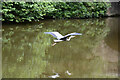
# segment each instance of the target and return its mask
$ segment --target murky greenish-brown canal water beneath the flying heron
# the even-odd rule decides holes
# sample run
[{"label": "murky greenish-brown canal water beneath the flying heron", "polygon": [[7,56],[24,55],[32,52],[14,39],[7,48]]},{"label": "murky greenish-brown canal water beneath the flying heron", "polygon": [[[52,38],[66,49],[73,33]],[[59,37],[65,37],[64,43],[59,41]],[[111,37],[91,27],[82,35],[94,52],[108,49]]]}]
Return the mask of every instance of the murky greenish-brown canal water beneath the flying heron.
[{"label": "murky greenish-brown canal water beneath the flying heron", "polygon": [[[3,78],[118,77],[118,19],[41,20],[2,27]],[[44,32],[82,33],[54,43]]]}]

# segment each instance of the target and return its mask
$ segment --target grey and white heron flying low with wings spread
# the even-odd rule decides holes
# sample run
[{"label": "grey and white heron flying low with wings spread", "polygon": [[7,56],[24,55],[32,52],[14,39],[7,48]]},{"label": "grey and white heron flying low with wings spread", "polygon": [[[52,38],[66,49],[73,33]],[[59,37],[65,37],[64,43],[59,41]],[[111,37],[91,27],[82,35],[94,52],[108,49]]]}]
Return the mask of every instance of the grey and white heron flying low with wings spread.
[{"label": "grey and white heron flying low with wings spread", "polygon": [[75,37],[75,35],[82,35],[82,33],[70,33],[67,34],[65,36],[61,35],[59,32],[44,32],[45,34],[51,34],[53,37],[57,38],[54,40],[54,44],[53,46],[57,43],[57,42],[61,42],[61,41],[70,41],[71,38]]}]

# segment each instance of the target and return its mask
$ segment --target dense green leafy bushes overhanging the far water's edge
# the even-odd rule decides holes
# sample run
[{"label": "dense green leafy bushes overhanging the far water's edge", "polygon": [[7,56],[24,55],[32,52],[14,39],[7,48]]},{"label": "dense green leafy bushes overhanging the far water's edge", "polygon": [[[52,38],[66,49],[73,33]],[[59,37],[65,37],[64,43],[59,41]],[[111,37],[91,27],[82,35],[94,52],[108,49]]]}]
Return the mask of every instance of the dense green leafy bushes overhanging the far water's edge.
[{"label": "dense green leafy bushes overhanging the far water's edge", "polygon": [[2,21],[99,18],[106,16],[109,6],[106,2],[2,2]]}]

